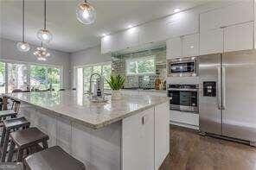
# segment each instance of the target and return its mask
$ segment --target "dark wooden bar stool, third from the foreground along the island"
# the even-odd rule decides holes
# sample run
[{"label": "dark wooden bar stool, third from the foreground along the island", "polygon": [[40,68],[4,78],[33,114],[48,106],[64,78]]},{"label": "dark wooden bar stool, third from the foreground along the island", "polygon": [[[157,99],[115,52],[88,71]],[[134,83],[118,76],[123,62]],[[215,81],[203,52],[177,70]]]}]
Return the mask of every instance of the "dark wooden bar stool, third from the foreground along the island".
[{"label": "dark wooden bar stool, third from the foreground along the island", "polygon": [[7,148],[10,139],[10,132],[16,131],[18,129],[28,129],[29,121],[25,117],[18,117],[7,119],[3,121],[3,133],[0,142],[0,151],[1,151],[1,161],[5,161],[5,157],[7,154]]}]

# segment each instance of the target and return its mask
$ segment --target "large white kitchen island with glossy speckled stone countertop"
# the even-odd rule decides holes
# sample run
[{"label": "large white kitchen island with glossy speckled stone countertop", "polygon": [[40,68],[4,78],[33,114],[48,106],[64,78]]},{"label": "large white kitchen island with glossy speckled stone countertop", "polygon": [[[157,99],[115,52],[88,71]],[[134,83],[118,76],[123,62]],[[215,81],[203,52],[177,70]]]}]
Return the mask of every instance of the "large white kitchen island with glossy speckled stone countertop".
[{"label": "large white kitchen island with glossy speckled stone countertop", "polygon": [[21,115],[86,164],[86,169],[158,169],[170,150],[168,98],[123,95],[92,103],[80,91],[4,95],[22,102]]}]

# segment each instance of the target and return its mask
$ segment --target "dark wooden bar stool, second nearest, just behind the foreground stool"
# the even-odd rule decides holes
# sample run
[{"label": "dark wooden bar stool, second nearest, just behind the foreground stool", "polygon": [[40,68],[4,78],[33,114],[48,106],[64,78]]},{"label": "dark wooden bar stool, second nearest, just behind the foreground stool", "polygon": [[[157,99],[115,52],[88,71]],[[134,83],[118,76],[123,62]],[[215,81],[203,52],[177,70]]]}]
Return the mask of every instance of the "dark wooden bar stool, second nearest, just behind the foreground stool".
[{"label": "dark wooden bar stool, second nearest, just behind the foreground stool", "polygon": [[46,149],[48,148],[48,139],[48,135],[35,127],[10,133],[10,151],[7,161],[12,161],[15,147],[17,148],[16,161],[21,162],[24,150],[27,150],[27,154],[31,154],[28,153],[28,150],[38,147],[40,143],[42,143],[43,149]]}]

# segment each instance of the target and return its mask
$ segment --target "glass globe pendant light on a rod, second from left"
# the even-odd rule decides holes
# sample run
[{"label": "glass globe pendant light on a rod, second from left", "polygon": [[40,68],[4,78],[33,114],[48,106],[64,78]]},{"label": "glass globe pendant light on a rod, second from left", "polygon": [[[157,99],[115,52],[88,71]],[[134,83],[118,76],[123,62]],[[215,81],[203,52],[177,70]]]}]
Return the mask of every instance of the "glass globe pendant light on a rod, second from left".
[{"label": "glass globe pendant light on a rod, second from left", "polygon": [[44,43],[49,43],[53,40],[53,35],[46,28],[46,0],[44,0],[44,28],[37,32],[37,38]]}]

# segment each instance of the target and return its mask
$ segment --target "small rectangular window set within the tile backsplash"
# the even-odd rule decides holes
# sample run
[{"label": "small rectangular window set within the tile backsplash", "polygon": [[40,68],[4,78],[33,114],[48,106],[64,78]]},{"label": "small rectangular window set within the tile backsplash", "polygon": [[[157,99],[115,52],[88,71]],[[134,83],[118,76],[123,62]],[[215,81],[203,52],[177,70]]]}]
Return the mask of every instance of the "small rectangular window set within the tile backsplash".
[{"label": "small rectangular window set within the tile backsplash", "polygon": [[139,74],[155,74],[156,57],[154,55],[137,58],[137,59],[128,59],[126,63],[126,74],[127,75],[139,75]]}]

